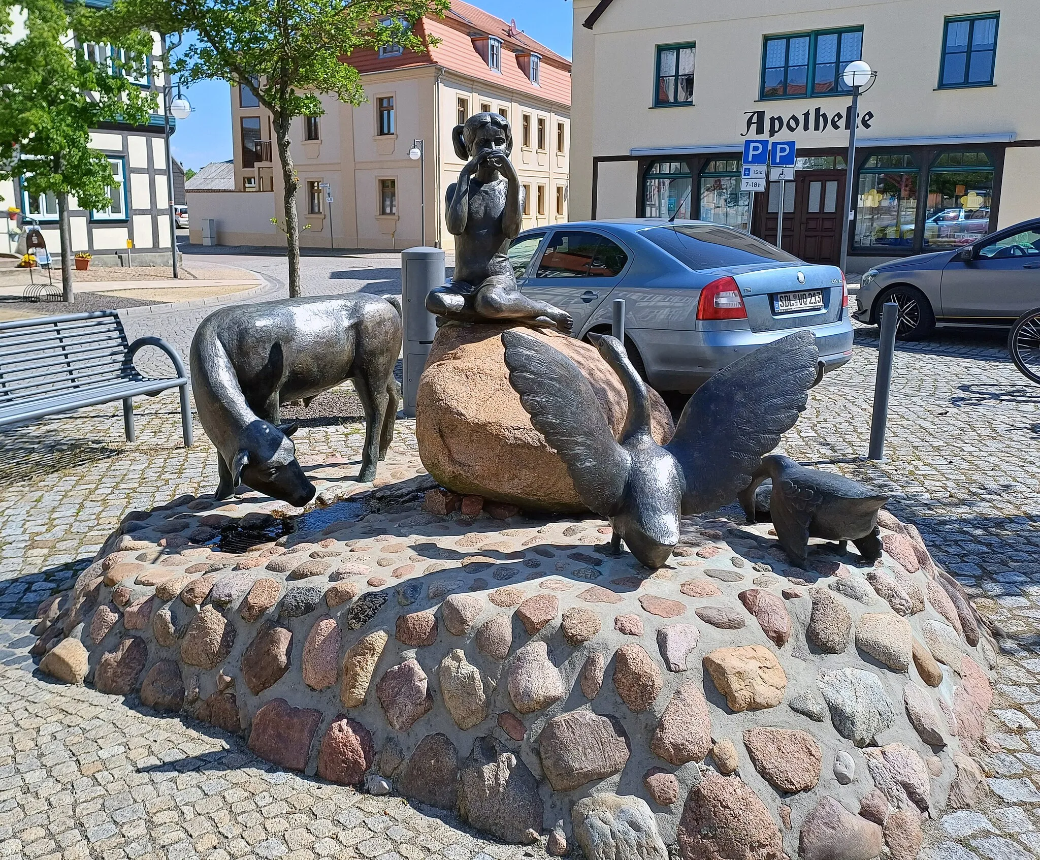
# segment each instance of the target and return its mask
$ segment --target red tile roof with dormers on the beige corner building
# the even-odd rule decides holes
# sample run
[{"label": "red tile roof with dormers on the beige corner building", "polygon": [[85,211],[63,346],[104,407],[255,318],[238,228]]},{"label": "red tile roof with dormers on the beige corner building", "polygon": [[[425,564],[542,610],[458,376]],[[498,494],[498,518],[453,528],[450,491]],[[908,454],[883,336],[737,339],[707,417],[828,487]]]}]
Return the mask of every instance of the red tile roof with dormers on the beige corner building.
[{"label": "red tile roof with dormers on the beige corner building", "polygon": [[[382,72],[419,66],[443,66],[472,78],[527,93],[531,96],[570,105],[571,63],[522,32],[476,6],[451,0],[444,18],[426,17],[416,24],[420,36],[436,36],[440,43],[421,53],[405,51],[396,57],[380,57],[375,51],[356,51],[349,62],[359,72]],[[488,67],[477,52],[471,36],[493,35],[502,42],[501,73]],[[542,57],[536,86],[520,69],[517,54],[534,52]]]}]

